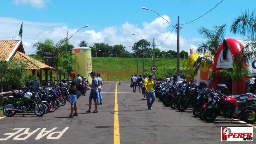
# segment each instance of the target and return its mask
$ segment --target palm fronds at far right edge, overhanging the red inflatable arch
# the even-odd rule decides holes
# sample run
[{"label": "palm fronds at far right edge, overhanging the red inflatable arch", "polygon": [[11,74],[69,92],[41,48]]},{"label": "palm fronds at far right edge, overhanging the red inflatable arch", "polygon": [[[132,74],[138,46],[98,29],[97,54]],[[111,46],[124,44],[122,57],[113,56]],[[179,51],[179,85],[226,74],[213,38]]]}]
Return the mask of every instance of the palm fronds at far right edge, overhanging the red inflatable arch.
[{"label": "palm fronds at far right edge, overhanging the red inflatable arch", "polygon": [[[247,63],[255,60],[256,57],[256,15],[254,11],[249,15],[242,13],[238,16],[230,27],[230,31],[234,34],[239,33],[243,37],[247,37],[247,41],[242,42],[243,50],[241,51],[241,59],[246,60]],[[243,61],[239,61],[242,64]]]}]

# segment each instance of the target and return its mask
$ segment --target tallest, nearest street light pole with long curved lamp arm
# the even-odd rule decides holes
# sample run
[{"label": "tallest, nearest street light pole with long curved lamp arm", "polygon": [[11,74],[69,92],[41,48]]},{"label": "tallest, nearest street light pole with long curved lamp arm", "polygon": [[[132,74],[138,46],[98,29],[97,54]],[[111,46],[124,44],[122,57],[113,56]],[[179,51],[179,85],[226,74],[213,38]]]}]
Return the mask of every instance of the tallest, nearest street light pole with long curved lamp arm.
[{"label": "tallest, nearest street light pole with long curved lamp arm", "polygon": [[[146,7],[141,7],[142,9],[144,10],[150,10],[150,9],[147,9]],[[154,10],[151,10],[151,11],[154,11]],[[155,12],[155,11],[154,11]],[[157,12],[155,12],[157,13]],[[158,14],[158,13],[157,13]],[[159,15],[159,14],[158,14]],[[159,15],[160,17],[162,17],[161,15]],[[163,17],[162,17],[163,18]],[[165,21],[167,21],[165,18],[163,18]],[[167,21],[168,22],[168,21]],[[171,26],[173,26],[170,22],[168,22]],[[177,22],[177,27],[173,26],[175,29],[177,29],[177,73],[176,73],[176,76],[177,76],[177,81],[179,81],[179,30],[182,29],[179,28],[179,16],[178,16],[178,22]]]}]

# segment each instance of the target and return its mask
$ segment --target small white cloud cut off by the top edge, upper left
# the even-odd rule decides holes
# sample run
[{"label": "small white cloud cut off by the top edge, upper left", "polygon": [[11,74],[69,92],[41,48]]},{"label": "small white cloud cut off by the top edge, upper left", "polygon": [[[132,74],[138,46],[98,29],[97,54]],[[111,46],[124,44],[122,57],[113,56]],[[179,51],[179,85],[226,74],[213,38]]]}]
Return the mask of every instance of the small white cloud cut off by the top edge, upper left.
[{"label": "small white cloud cut off by the top edge, upper left", "polygon": [[29,4],[32,5],[34,8],[41,9],[45,6],[46,2],[51,2],[51,0],[15,0],[13,4],[20,5],[20,4]]}]

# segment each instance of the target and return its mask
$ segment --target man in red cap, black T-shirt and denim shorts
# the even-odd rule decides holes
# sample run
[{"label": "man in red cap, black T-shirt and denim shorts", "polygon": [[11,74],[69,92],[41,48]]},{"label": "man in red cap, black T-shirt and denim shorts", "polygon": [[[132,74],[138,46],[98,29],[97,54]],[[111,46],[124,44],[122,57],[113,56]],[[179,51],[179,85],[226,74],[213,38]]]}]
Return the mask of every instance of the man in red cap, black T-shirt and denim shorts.
[{"label": "man in red cap, black T-shirt and denim shorts", "polygon": [[[73,118],[74,116],[78,116],[77,114],[77,80],[75,79],[75,72],[70,73],[70,78],[72,79],[72,82],[69,85],[66,85],[67,88],[69,88],[69,94],[70,94],[70,114],[67,116],[68,118]],[[73,112],[75,110],[75,113],[73,115]]]}]

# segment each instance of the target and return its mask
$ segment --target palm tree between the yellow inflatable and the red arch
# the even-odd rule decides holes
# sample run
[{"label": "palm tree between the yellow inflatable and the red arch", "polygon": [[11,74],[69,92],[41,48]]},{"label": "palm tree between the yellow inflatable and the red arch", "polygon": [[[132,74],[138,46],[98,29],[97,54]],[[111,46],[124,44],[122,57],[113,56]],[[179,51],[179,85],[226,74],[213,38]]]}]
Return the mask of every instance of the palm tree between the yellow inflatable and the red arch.
[{"label": "palm tree between the yellow inflatable and the red arch", "polygon": [[194,71],[195,74],[197,74],[200,66],[213,64],[219,45],[223,42],[225,37],[226,26],[226,24],[222,26],[213,26],[213,30],[200,27],[200,29],[197,30],[200,35],[203,35],[207,39],[206,43],[199,45],[197,53],[208,55],[200,57],[194,62],[194,67],[196,68]]}]

